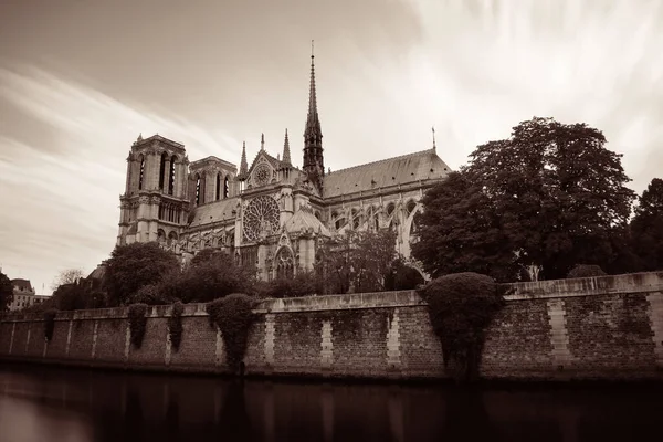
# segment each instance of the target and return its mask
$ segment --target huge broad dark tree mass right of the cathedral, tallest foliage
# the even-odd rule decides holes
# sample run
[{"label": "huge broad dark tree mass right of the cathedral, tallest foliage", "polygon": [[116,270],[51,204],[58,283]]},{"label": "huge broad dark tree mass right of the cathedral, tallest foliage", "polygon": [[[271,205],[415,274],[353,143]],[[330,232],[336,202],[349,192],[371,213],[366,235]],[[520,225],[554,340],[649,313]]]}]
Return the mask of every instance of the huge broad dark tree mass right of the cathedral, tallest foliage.
[{"label": "huge broad dark tree mass right of the cathedral, tallest foliage", "polygon": [[[617,259],[612,238],[627,227],[634,193],[624,186],[630,179],[621,155],[604,144],[603,134],[585,124],[535,117],[514,127],[508,139],[478,146],[461,170],[465,183],[439,187],[449,206],[433,204],[435,194],[424,202],[424,213],[449,210],[438,217],[460,232],[435,228],[435,214],[422,217],[421,230],[429,234],[417,248],[420,259],[444,267],[455,257],[487,265],[482,273],[494,275],[494,265],[509,269],[513,252],[516,264],[539,266],[545,278],[564,277],[577,263],[609,267]],[[449,194],[452,186],[461,190],[456,198]],[[488,246],[473,244],[477,240]],[[440,249],[436,262],[423,252],[427,246]]]}]

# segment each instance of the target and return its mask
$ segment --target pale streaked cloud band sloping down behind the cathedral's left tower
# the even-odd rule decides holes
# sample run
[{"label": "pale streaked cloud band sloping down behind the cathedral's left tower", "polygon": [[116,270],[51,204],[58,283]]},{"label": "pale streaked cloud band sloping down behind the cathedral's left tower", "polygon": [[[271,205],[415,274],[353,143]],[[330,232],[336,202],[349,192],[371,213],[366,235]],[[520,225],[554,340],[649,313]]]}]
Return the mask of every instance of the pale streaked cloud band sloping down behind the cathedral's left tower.
[{"label": "pale streaked cloud band sloping down behind the cathedral's left tower", "polygon": [[40,290],[61,270],[92,271],[108,256],[125,158],[140,131],[172,137],[196,158],[234,156],[239,146],[177,115],[119,103],[30,66],[0,69],[0,99],[29,116],[33,131],[52,129],[41,139],[20,130],[0,136],[0,263],[4,273],[29,277]]}]

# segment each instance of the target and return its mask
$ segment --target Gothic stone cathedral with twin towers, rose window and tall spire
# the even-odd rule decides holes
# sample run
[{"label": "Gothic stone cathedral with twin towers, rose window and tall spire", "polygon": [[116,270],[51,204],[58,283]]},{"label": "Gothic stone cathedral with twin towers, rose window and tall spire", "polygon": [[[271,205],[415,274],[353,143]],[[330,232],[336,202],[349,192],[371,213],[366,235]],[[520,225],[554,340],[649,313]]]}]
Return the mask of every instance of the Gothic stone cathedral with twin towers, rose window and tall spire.
[{"label": "Gothic stone cathedral with twin towers, rose window and tall spire", "polygon": [[287,129],[276,157],[263,136],[249,165],[244,144],[239,170],[213,156],[189,162],[183,145],[139,136],[127,158],[117,244],[156,241],[182,262],[211,248],[272,280],[312,270],[319,245],[348,229],[394,229],[408,260],[419,201],[450,172],[434,139],[427,150],[327,172],[323,152],[312,55],[302,168]]}]

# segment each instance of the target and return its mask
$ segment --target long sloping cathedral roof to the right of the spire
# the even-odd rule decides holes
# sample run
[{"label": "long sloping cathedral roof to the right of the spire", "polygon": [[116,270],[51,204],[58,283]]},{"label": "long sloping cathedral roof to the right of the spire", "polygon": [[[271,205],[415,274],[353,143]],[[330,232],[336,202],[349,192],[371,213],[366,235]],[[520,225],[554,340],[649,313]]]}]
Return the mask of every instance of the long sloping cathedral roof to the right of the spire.
[{"label": "long sloping cathedral roof to the right of the spire", "polygon": [[327,173],[324,198],[440,179],[450,171],[434,149],[423,150]]}]

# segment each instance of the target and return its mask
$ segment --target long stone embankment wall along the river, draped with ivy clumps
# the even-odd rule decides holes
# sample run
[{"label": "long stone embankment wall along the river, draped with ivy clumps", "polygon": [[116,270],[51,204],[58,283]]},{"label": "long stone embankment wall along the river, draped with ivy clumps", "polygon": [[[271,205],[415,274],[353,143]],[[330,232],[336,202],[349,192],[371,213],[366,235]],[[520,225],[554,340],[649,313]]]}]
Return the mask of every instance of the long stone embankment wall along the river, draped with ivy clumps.
[{"label": "long stone embankment wall along the river, draped with ivy clumps", "polygon": [[[514,284],[487,330],[481,372],[494,379],[654,379],[663,376],[663,273]],[[443,378],[441,346],[414,292],[263,301],[244,359],[250,375]],[[224,343],[204,305],[168,338],[170,307],[151,307],[143,346],[126,308],[0,322],[0,359],[162,371],[227,372]]]}]

